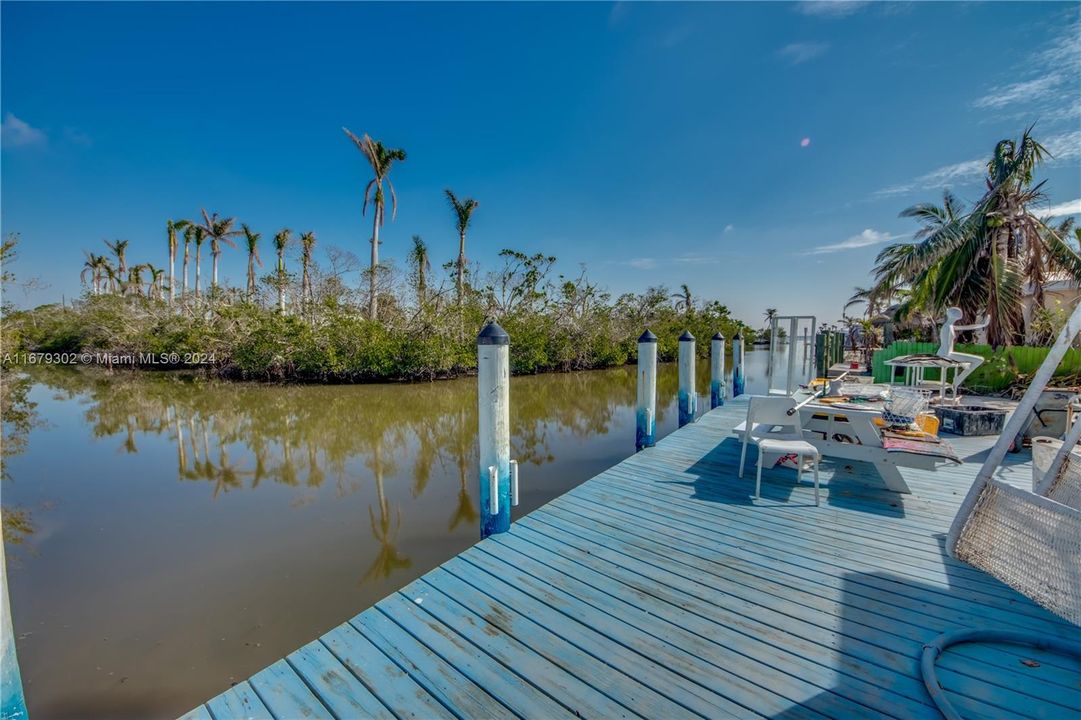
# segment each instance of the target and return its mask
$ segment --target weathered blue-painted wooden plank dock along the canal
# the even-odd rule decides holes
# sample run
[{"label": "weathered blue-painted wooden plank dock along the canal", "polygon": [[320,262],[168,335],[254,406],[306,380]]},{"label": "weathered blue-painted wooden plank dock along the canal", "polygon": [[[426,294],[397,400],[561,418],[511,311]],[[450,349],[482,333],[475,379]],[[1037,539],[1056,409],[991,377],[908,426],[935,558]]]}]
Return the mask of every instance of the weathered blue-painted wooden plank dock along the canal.
[{"label": "weathered blue-painted wooden plank dock along the canal", "polygon": [[[766,470],[753,502],[731,435],[743,400],[185,719],[939,718],[919,671],[938,634],[1079,638],[943,549],[990,438],[959,439],[961,467],[904,470],[910,495],[882,490],[870,466],[825,458],[820,507],[790,469]],[[1001,472],[1030,483],[1013,462]],[[1081,665],[1020,646],[950,649],[939,678],[967,718],[1081,708]]]}]

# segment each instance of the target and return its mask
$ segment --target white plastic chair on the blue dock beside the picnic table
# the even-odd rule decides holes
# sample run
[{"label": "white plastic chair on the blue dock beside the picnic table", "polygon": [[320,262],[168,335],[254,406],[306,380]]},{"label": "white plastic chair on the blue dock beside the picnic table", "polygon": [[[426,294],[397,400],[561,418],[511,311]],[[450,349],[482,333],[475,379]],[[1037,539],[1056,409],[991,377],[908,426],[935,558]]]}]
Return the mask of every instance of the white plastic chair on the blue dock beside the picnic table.
[{"label": "white plastic chair on the blue dock beside the picnic table", "polygon": [[751,398],[744,426],[743,452],[739,454],[739,477],[747,459],[747,443],[758,445],[758,477],[755,497],[762,492],[762,458],[765,453],[796,455],[796,481],[803,479],[803,458],[814,459],[814,504],[818,505],[818,449],[803,439],[800,411],[791,398]]}]

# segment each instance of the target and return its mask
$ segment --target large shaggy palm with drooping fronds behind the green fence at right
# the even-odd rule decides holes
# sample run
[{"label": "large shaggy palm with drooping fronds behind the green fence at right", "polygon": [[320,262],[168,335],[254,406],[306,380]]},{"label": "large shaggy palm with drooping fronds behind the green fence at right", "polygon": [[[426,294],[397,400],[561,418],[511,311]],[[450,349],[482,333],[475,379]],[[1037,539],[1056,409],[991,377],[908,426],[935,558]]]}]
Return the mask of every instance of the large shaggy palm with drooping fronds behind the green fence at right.
[{"label": "large shaggy palm with drooping fronds behind the green fence at right", "polygon": [[890,245],[876,261],[877,286],[911,290],[898,319],[957,306],[969,317],[986,315],[988,341],[1006,345],[1020,337],[1026,283],[1042,306],[1050,274],[1081,281],[1081,256],[1033,213],[1043,184],[1033,185],[1032,175],[1050,155],[1030,132],[996,145],[987,190],[967,212],[947,196],[942,208],[918,204],[902,213],[923,224],[917,242]]}]

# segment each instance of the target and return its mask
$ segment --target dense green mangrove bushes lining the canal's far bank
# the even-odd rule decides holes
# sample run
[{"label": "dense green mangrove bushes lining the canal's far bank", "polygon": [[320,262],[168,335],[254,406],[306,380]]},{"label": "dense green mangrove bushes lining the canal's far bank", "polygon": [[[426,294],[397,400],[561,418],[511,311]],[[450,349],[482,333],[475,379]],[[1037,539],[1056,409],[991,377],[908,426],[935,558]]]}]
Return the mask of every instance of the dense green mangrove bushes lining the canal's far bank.
[{"label": "dense green mangrove bushes lining the canal's far bank", "polygon": [[[250,229],[245,237],[250,246],[257,242]],[[464,274],[459,307],[459,267],[435,285],[419,239],[408,278],[385,274],[391,281],[374,321],[363,309],[366,297],[342,280],[348,261],[332,253],[330,265],[321,266],[312,256],[313,234],[302,238],[299,279],[285,270],[291,236],[283,230],[276,237],[277,272],[254,291],[251,282],[244,292],[212,285],[209,297],[184,296],[171,306],[160,284],[149,283],[146,292],[134,280],[106,284],[66,307],[9,308],[0,339],[6,354],[177,354],[178,364],[206,354],[212,362],[205,369],[226,377],[365,382],[470,372],[473,337],[488,319],[510,333],[516,373],[623,364],[635,357],[646,326],[660,337],[663,359],[675,358],[684,329],[708,338],[717,331],[732,337],[743,328],[719,303],[677,308],[666,288],[613,298],[584,271],[552,277],[555,257],[510,250],[501,253],[497,270]],[[708,343],[699,351],[708,352]]]}]

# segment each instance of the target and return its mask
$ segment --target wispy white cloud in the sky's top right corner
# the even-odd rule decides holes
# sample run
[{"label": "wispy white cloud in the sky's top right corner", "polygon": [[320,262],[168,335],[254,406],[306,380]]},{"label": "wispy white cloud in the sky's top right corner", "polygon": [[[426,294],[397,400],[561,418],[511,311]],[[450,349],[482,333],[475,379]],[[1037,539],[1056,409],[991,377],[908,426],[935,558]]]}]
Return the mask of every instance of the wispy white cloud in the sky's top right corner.
[{"label": "wispy white cloud in the sky's top right corner", "polygon": [[1077,95],[1081,76],[1081,21],[1065,23],[1058,32],[1049,46],[1022,63],[1020,79],[991,88],[973,106],[1001,110],[1024,104],[1028,115],[1062,112],[1063,105]]}]

